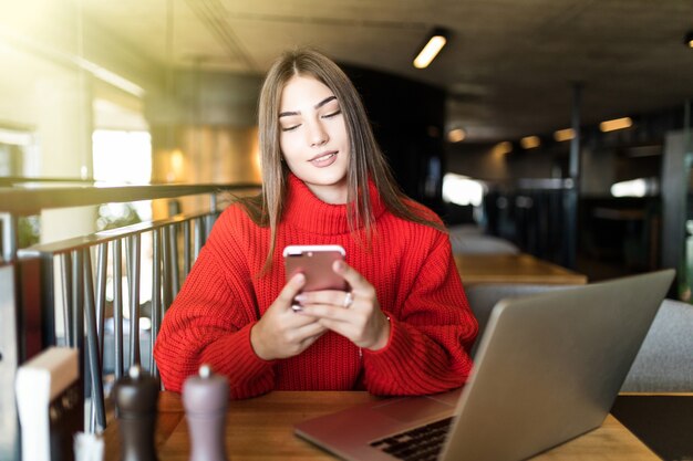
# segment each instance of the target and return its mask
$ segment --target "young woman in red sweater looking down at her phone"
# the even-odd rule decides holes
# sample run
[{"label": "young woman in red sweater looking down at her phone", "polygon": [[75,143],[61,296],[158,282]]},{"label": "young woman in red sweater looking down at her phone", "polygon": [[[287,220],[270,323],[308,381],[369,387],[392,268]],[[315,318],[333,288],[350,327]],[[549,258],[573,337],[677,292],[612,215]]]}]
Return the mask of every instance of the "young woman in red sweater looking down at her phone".
[{"label": "young woman in red sweater looking down at her phone", "polygon": [[[324,55],[270,69],[259,102],[262,191],[217,220],[154,350],[164,385],[206,363],[231,397],[272,389],[422,395],[461,386],[477,324],[439,218],[397,189],[360,97]],[[339,244],[349,291],[286,281],[290,244]],[[299,302],[301,311],[292,304]]]}]

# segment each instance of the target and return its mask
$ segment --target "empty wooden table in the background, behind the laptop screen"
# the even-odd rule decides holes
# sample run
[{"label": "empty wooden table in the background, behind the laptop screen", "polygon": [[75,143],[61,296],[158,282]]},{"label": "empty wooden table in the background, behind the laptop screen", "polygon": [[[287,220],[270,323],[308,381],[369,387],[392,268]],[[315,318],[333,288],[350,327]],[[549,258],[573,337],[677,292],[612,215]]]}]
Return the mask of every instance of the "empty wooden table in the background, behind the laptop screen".
[{"label": "empty wooden table in the background, behind the laptop screen", "polygon": [[587,275],[539,260],[531,254],[454,254],[462,282],[580,285]]}]

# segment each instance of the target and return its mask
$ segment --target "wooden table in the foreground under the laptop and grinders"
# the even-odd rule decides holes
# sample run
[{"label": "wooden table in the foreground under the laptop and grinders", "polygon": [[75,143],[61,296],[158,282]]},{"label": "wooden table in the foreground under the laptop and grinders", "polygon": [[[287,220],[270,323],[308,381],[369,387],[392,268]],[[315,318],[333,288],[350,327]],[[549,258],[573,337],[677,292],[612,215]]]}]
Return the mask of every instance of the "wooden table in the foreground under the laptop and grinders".
[{"label": "wooden table in the foreground under the laptop and grinders", "polygon": [[[255,399],[231,401],[227,413],[226,444],[231,460],[333,460],[329,453],[297,438],[293,425],[308,418],[374,400],[363,391],[273,391]],[[105,432],[106,461],[120,459],[117,421]],[[156,446],[161,461],[188,461],[189,440],[178,394],[159,399]],[[659,458],[616,418],[534,460],[629,460]]]}]

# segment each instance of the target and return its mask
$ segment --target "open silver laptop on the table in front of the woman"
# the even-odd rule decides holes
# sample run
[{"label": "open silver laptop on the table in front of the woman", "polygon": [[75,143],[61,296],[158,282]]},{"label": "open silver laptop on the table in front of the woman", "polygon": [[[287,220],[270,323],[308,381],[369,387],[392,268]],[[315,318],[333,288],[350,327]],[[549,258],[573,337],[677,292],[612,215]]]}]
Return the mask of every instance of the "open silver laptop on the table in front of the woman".
[{"label": "open silver laptop on the table in front of the woman", "polygon": [[369,402],[303,421],[296,433],[346,460],[406,459],[391,453],[437,433],[442,449],[410,451],[411,459],[531,457],[601,426],[673,276],[665,270],[503,300],[464,388]]}]

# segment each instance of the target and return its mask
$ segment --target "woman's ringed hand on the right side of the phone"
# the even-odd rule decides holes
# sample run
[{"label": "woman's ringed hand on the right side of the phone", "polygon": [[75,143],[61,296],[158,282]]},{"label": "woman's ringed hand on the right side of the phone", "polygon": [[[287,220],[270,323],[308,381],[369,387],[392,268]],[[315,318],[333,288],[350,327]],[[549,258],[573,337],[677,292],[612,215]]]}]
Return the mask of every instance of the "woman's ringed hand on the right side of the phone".
[{"label": "woman's ringed hand on the right side of the phone", "polygon": [[359,347],[377,350],[387,345],[390,322],[380,310],[375,289],[359,272],[343,261],[332,270],[342,275],[351,292],[324,290],[301,293],[298,316],[318,318],[318,323],[346,337]]}]

